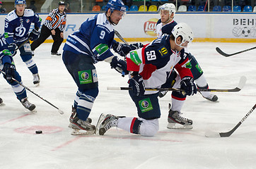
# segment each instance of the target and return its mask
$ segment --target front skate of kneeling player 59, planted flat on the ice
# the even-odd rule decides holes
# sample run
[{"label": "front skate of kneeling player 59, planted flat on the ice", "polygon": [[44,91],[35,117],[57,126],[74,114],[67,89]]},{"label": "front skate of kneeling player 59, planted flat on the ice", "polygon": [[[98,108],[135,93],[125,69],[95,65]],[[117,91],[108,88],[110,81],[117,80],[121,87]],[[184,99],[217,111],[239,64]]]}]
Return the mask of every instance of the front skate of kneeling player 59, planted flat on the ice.
[{"label": "front skate of kneeling player 59, planted flat on the ice", "polygon": [[169,129],[192,129],[193,121],[183,118],[179,111],[172,111],[169,104],[168,125]]}]

